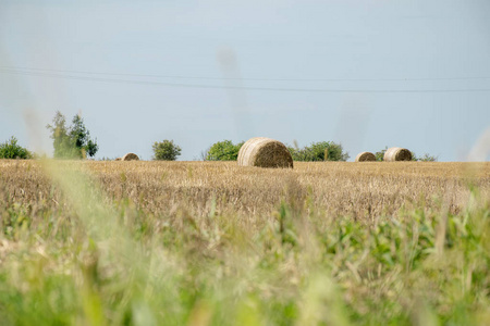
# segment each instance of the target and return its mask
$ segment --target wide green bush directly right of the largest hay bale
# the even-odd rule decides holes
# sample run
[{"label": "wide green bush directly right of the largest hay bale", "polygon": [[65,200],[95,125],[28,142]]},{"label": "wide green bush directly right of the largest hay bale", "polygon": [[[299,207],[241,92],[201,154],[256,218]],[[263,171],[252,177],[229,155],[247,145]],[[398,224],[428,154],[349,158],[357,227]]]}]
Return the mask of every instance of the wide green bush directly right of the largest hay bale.
[{"label": "wide green bush directly right of the largest hay bale", "polygon": [[347,161],[350,155],[343,151],[342,145],[333,141],[311,142],[302,149],[287,147],[294,161]]}]

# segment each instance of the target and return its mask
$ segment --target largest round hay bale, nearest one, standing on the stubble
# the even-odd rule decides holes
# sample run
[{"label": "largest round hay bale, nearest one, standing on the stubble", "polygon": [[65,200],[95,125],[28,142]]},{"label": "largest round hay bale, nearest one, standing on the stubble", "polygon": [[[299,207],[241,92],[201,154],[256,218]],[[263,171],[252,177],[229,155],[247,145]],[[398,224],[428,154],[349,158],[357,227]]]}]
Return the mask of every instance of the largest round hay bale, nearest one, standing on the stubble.
[{"label": "largest round hay bale, nearest one, standing on the stubble", "polygon": [[293,158],[281,141],[255,137],[248,139],[240,149],[238,165],[293,168]]}]

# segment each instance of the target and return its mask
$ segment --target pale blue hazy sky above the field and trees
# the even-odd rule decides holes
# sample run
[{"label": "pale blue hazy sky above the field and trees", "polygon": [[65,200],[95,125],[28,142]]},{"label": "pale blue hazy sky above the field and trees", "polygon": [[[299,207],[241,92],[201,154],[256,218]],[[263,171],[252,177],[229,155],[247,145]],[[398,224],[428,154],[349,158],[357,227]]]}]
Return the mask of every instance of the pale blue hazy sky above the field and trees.
[{"label": "pale blue hazy sky above the field and trees", "polygon": [[52,154],[60,111],[97,159],[260,136],[489,161],[489,59],[488,0],[0,0],[0,142]]}]

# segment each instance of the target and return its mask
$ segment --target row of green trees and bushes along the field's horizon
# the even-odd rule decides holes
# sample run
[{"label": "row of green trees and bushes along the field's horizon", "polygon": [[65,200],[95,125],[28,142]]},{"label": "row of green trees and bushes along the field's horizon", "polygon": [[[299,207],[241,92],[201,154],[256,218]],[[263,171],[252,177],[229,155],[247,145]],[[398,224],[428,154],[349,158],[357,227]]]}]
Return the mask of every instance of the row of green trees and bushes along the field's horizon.
[{"label": "row of green trees and bushes along the field's horizon", "polygon": [[[50,138],[53,145],[54,159],[87,159],[94,158],[99,150],[97,139],[90,137],[90,131],[85,126],[81,115],[75,115],[69,126],[65,116],[57,112],[52,124],[46,126],[50,130]],[[201,152],[203,161],[236,161],[238,151],[244,141],[233,143],[231,140],[215,142],[207,150]],[[341,143],[333,141],[311,142],[309,146],[299,148],[286,145],[294,161],[316,162],[316,161],[347,161],[348,152],[344,151]],[[388,147],[376,152],[376,160],[382,161]],[[175,161],[181,155],[182,149],[173,140],[156,141],[152,145],[154,160]],[[413,161],[437,161],[437,158],[425,154],[417,158],[412,152]],[[36,154],[17,143],[15,137],[4,143],[0,143],[0,159],[34,159]]]}]

